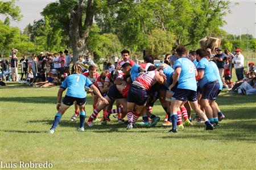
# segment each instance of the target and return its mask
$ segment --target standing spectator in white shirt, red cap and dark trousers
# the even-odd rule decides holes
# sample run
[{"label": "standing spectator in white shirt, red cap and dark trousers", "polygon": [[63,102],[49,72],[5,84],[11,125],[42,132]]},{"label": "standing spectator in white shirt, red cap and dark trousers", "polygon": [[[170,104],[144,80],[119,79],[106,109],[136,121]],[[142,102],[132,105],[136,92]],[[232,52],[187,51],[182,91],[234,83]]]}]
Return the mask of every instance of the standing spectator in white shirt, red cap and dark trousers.
[{"label": "standing spectator in white shirt, red cap and dark trousers", "polygon": [[241,49],[236,49],[235,52],[237,53],[237,55],[234,56],[234,59],[232,60],[232,63],[234,64],[234,68],[236,69],[237,80],[240,81],[240,80],[243,79],[243,61],[244,61],[244,57],[241,54]]}]

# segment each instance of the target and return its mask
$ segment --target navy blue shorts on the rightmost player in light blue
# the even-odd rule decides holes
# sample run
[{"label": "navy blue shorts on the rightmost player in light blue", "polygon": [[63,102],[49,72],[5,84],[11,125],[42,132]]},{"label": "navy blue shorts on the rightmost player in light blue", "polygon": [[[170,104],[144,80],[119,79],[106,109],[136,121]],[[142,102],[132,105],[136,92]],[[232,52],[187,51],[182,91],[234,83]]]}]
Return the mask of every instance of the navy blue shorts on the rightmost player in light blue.
[{"label": "navy blue shorts on the rightmost player in light blue", "polygon": [[202,98],[214,101],[218,96],[219,90],[220,84],[218,82],[210,82],[202,89]]}]

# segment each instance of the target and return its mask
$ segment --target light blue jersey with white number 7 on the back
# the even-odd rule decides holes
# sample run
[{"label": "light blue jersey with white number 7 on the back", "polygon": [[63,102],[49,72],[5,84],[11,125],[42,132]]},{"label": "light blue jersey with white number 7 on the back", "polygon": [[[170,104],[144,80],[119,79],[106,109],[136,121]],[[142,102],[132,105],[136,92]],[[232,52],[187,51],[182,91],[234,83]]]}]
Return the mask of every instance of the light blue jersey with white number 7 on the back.
[{"label": "light blue jersey with white number 7 on the back", "polygon": [[85,86],[90,87],[92,81],[82,74],[71,74],[61,84],[61,88],[68,89],[66,95],[70,97],[85,98]]}]

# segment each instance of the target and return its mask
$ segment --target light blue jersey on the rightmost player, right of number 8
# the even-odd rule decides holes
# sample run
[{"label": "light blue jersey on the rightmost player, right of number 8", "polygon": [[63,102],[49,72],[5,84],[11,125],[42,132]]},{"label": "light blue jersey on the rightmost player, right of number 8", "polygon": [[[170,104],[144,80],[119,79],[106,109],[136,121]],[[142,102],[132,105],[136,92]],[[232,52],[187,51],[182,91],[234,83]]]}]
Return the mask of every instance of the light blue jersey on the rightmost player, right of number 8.
[{"label": "light blue jersey on the rightmost player, right of number 8", "polygon": [[197,64],[197,70],[203,70],[204,76],[201,80],[199,80],[199,86],[202,89],[204,85],[208,84],[209,82],[213,82],[218,80],[216,74],[213,73],[212,65],[210,65],[209,61],[206,58],[203,58]]}]

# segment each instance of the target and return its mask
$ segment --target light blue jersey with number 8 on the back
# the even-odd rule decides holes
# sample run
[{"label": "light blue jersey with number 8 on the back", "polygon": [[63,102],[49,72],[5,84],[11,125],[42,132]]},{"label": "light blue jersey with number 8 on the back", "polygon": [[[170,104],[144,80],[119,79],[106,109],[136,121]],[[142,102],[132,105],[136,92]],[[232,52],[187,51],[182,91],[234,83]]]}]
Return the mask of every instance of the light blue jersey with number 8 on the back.
[{"label": "light blue jersey with number 8 on the back", "polygon": [[174,69],[176,68],[181,68],[177,88],[196,91],[196,67],[192,63],[192,61],[190,61],[186,57],[181,57],[180,59],[177,59],[174,63]]}]

